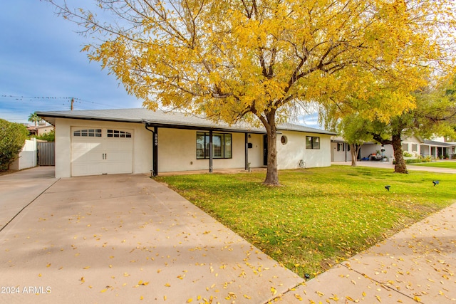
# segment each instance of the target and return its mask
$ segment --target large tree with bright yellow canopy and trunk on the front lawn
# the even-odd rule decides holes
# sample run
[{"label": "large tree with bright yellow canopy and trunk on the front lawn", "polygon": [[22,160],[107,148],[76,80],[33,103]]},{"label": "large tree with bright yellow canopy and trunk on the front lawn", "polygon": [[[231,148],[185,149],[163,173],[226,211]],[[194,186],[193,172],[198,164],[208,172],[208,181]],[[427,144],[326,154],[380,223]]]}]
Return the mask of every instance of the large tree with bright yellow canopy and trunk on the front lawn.
[{"label": "large tree with bright yellow canopy and trunk on the front lawn", "polygon": [[279,183],[276,124],[296,104],[367,100],[373,88],[400,82],[403,98],[371,109],[388,117],[408,108],[408,92],[430,63],[442,67],[453,42],[452,0],[94,1],[111,21],[48,1],[100,38],[83,51],[147,108],[264,125],[265,184]]}]

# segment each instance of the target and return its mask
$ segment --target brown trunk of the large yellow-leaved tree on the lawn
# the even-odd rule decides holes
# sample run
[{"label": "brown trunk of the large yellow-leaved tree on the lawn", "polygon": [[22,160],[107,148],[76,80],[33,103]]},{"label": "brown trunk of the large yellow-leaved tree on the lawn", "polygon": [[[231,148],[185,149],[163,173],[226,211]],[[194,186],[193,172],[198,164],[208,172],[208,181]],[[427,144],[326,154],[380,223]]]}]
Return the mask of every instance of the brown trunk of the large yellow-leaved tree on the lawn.
[{"label": "brown trunk of the large yellow-leaved tree on the lawn", "polygon": [[266,171],[266,179],[263,184],[271,186],[279,186],[279,174],[277,172],[277,128],[276,128],[276,112],[271,110],[267,114],[267,122],[261,120],[266,127],[268,137],[268,165]]}]

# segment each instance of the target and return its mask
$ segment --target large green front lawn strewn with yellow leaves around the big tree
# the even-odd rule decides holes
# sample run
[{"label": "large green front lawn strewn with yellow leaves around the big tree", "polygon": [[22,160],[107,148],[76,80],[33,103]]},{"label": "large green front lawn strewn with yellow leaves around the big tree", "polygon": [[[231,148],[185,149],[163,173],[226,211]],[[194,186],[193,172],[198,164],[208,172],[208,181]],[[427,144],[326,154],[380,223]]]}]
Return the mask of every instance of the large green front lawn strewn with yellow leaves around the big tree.
[{"label": "large green front lawn strewn with yellow leaves around the big tree", "polygon": [[264,174],[156,179],[300,276],[315,276],[456,202],[456,174],[331,166],[281,171],[281,187],[261,184]]}]

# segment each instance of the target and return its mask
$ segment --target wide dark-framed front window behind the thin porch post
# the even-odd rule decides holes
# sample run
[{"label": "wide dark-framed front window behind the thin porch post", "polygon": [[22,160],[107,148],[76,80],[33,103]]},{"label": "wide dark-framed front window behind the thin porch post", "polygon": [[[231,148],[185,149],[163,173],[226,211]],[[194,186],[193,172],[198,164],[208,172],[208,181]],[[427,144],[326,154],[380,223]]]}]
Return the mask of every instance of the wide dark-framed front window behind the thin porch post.
[{"label": "wide dark-framed front window behind the thin porch post", "polygon": [[[232,158],[232,135],[213,133],[212,148],[212,157]],[[209,158],[209,133],[197,132],[197,159],[205,158]]]}]

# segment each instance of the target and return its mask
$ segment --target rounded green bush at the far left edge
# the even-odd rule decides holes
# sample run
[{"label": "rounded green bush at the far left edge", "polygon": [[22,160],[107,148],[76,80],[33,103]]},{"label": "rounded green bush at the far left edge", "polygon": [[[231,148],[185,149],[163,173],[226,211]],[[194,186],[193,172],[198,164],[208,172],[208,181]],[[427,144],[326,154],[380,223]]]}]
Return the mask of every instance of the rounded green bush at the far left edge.
[{"label": "rounded green bush at the far left edge", "polygon": [[24,125],[0,119],[0,171],[9,169],[24,147],[27,135]]}]

